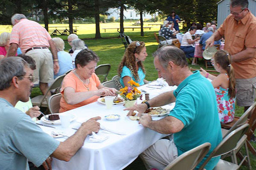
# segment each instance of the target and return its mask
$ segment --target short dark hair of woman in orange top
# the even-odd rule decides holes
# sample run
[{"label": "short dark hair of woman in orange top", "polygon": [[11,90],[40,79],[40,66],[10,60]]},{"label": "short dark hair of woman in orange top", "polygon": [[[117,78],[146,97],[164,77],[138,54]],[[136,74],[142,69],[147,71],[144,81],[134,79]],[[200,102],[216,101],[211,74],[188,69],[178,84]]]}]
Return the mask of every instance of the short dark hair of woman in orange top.
[{"label": "short dark hair of woman in orange top", "polygon": [[75,59],[75,65],[77,68],[77,65],[81,65],[81,67],[84,67],[89,62],[95,61],[99,62],[99,56],[90,49],[82,49],[77,55]]}]

